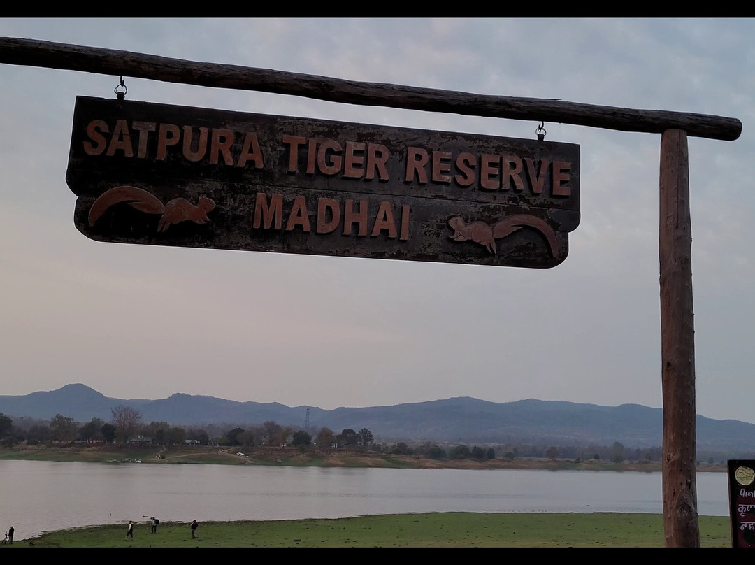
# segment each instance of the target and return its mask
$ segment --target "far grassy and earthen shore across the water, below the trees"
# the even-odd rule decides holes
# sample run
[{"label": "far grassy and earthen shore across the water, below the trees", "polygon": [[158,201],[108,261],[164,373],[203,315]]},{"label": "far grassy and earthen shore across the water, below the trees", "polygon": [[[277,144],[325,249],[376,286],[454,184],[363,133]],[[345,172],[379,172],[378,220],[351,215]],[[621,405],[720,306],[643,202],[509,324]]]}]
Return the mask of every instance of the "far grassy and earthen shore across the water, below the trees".
[{"label": "far grassy and earthen shore across the water, below the trees", "polygon": [[[239,455],[239,449],[243,455]],[[590,459],[432,459],[390,455],[352,449],[300,449],[297,447],[254,447],[223,449],[211,446],[118,447],[118,446],[20,446],[0,449],[0,460],[119,463],[139,461],[149,465],[177,463],[215,465],[289,465],[297,467],[381,467],[459,469],[547,469],[587,471],[661,471],[660,462],[606,462]],[[698,471],[726,471],[722,466],[703,465]]]}]

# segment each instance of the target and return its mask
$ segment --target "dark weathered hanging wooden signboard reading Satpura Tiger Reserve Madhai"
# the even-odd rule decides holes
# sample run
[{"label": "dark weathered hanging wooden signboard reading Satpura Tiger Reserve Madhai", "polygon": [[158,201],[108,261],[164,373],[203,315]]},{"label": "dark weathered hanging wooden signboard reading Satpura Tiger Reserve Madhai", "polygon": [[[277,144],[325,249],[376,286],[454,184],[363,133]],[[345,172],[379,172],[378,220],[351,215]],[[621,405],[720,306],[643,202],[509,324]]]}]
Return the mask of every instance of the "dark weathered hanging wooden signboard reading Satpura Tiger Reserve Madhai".
[{"label": "dark weathered hanging wooden signboard reading Satpura Tiger Reserve Madhai", "polygon": [[66,181],[91,239],[553,267],[579,146],[76,99]]}]

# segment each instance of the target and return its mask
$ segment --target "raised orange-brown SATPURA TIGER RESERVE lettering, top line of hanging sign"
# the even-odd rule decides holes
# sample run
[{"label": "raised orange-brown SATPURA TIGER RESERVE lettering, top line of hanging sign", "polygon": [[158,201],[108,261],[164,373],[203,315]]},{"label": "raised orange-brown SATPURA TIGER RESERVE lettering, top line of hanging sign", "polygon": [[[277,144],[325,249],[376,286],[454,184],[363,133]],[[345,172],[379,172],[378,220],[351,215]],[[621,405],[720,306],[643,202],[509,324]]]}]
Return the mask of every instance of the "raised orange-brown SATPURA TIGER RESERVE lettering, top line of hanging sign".
[{"label": "raised orange-brown SATPURA TIGER RESERVE lettering, top line of hanging sign", "polygon": [[[240,143],[239,143],[240,141]],[[391,181],[387,163],[390,151],[384,144],[355,140],[318,139],[283,134],[288,173],[339,175],[344,179]],[[231,167],[264,168],[265,159],[257,134],[225,128],[194,127],[119,119],[112,127],[94,119],[86,126],[83,150],[89,156],[122,155],[135,159],[165,161],[176,151],[186,162],[207,161]],[[400,181],[419,185],[428,182],[461,189],[529,190],[553,198],[571,196],[571,162],[519,157],[509,153],[470,153],[409,146]],[[550,180],[546,186],[547,181]]]}]

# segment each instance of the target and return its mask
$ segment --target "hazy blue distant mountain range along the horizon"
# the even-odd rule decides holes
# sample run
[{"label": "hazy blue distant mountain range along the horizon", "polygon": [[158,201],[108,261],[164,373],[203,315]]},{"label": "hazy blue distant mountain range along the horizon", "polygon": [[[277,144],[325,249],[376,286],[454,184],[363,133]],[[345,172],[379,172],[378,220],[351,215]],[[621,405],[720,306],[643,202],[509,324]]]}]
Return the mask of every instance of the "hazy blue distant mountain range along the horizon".
[{"label": "hazy blue distant mountain range along the horizon", "polygon": [[[274,420],[303,428],[307,409],[310,429],[328,426],[368,428],[376,440],[433,440],[477,443],[548,443],[553,445],[660,446],[663,412],[639,404],[598,406],[555,400],[493,403],[469,397],[368,408],[324,410],[315,406],[237,402],[214,397],[173,394],[159,400],[117,399],[84,384],[57,391],[0,396],[0,412],[11,417],[48,420],[63,414],[76,421],[108,421],[119,404],[137,409],[143,421],[173,425],[261,424]],[[755,450],[755,425],[713,420],[698,415],[698,449]]]}]

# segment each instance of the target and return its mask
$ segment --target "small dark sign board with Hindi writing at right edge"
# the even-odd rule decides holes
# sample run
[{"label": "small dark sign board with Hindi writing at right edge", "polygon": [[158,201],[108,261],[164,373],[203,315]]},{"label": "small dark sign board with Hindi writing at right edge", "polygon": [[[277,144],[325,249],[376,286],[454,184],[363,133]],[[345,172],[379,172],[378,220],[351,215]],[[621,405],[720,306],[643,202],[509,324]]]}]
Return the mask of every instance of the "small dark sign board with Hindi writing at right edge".
[{"label": "small dark sign board with Hindi writing at right edge", "polygon": [[755,459],[729,459],[732,546],[755,548]]}]

